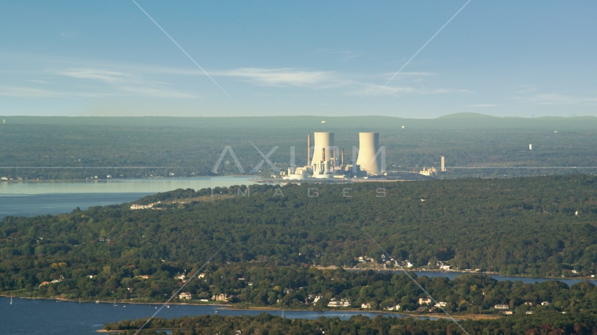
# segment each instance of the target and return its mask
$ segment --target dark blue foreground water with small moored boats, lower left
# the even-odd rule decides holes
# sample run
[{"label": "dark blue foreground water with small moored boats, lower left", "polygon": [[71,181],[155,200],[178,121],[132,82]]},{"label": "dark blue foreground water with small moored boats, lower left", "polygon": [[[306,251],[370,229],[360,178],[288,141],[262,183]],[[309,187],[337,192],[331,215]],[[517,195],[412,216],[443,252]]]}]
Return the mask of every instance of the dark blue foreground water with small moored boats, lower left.
[{"label": "dark blue foreground water with small moored boats, lower left", "polygon": [[[127,306],[124,308],[123,306]],[[270,313],[282,315],[282,311],[266,310],[227,310],[224,306],[197,306],[197,305],[169,305],[157,315],[164,318],[180,318],[184,315],[208,315],[217,311],[217,315],[259,315]],[[0,334],[25,335],[25,334],[97,334],[97,329],[103,328],[108,322],[138,318],[147,318],[159,308],[158,305],[142,304],[95,304],[92,302],[56,302],[54,300],[40,299],[13,299],[0,297]],[[375,318],[377,315],[404,315],[389,313],[367,312],[311,312],[311,311],[284,311],[286,318],[317,319],[340,318],[348,320],[352,315],[366,315]]]}]

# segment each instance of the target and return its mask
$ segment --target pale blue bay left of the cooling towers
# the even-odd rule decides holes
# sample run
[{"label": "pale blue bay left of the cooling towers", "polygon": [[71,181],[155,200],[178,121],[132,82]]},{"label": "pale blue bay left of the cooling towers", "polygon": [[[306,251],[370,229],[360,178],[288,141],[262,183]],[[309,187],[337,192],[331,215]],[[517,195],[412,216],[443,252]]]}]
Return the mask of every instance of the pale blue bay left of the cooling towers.
[{"label": "pale blue bay left of the cooling towers", "polygon": [[177,188],[199,190],[254,184],[248,177],[112,179],[100,181],[0,182],[0,218],[70,213],[76,207],[122,204]]}]

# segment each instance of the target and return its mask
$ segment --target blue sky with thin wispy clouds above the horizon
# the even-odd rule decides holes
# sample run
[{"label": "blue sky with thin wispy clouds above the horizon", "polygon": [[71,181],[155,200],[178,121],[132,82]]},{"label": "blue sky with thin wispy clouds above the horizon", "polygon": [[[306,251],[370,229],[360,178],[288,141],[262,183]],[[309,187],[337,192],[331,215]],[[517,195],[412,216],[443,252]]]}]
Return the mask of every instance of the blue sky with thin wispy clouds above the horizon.
[{"label": "blue sky with thin wispy clouds above the horizon", "polygon": [[0,2],[0,114],[597,116],[596,1]]}]

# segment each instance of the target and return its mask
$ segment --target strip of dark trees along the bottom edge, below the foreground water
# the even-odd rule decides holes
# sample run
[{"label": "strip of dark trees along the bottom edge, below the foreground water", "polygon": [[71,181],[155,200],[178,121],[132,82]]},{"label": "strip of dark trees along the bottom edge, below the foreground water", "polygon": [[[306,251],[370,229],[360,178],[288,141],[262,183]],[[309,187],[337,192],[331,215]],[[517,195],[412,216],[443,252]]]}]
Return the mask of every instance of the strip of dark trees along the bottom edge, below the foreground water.
[{"label": "strip of dark trees along the bottom edge, below the foreground water", "polygon": [[[122,329],[122,335],[136,334],[145,319],[108,324],[104,329]],[[498,320],[459,321],[468,334],[595,334],[595,315],[516,315]],[[415,320],[412,318],[367,318],[357,315],[350,320],[319,318],[289,320],[262,313],[257,316],[201,315],[193,318],[153,320],[142,334],[166,334],[160,329],[174,329],[172,334],[465,334],[451,320]],[[157,332],[154,330],[157,329]]]}]

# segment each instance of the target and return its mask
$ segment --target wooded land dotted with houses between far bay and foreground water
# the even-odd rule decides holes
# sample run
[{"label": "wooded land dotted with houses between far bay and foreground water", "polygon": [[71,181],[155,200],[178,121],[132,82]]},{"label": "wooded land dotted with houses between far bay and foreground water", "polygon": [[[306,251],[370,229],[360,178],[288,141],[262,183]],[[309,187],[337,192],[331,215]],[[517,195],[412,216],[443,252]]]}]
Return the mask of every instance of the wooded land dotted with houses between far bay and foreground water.
[{"label": "wooded land dotted with houses between far bay and foreground water", "polygon": [[[159,202],[147,209],[122,204],[58,216],[6,216],[0,224],[0,291],[163,301],[225,246],[205,275],[185,288],[192,299],[224,294],[232,304],[289,308],[326,308],[332,299],[349,299],[353,308],[399,304],[401,311],[413,311],[424,293],[404,275],[313,267],[352,268],[366,256],[390,269],[441,262],[509,275],[591,276],[596,182],[580,174],[260,185],[250,191],[235,186],[215,188],[213,198],[211,190],[189,189],[136,202]],[[310,188],[317,188],[316,197],[309,196],[315,194]],[[388,251],[387,258],[365,233]],[[418,280],[457,313],[494,313],[496,304],[511,311],[596,308],[596,291],[588,283],[522,285],[482,274]],[[543,301],[549,306],[540,306]]]}]

